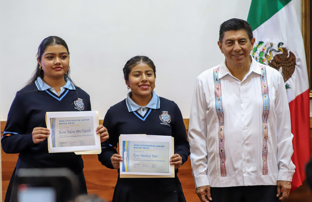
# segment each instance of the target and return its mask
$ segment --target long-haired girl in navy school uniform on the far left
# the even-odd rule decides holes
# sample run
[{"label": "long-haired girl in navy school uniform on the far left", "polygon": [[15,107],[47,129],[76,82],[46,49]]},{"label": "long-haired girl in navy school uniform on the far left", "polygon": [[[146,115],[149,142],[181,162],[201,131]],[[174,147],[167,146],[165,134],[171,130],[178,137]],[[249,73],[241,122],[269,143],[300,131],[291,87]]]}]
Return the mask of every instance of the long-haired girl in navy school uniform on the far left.
[{"label": "long-haired girl in navy school uniform on the far left", "polygon": [[[46,112],[90,111],[90,96],[70,78],[69,51],[57,36],[43,39],[38,48],[37,68],[28,84],[17,92],[1,139],[5,153],[19,153],[5,202],[10,201],[19,168],[69,168],[79,179],[80,193],[86,193],[83,161],[80,155],[48,153]],[[108,139],[103,125],[96,129],[101,142]]]}]

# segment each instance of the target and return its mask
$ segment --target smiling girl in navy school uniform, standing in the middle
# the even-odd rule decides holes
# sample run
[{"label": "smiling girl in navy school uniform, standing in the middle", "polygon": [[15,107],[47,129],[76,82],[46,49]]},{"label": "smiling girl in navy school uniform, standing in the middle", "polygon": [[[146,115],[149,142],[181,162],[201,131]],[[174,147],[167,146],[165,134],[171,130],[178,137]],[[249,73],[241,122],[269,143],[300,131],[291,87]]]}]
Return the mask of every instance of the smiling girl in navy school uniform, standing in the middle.
[{"label": "smiling girl in navy school uniform, standing in the middle", "polygon": [[[182,114],[177,104],[158,97],[155,88],[156,68],[146,56],[135,56],[124,66],[127,98],[110,107],[103,125],[110,133],[102,144],[100,162],[108,168],[119,169],[123,160],[116,146],[120,134],[167,135],[174,137],[174,178],[120,178],[115,186],[113,202],[182,202],[185,201],[178,179],[178,168],[188,159],[189,144]],[[119,171],[119,170],[118,170]]]}]

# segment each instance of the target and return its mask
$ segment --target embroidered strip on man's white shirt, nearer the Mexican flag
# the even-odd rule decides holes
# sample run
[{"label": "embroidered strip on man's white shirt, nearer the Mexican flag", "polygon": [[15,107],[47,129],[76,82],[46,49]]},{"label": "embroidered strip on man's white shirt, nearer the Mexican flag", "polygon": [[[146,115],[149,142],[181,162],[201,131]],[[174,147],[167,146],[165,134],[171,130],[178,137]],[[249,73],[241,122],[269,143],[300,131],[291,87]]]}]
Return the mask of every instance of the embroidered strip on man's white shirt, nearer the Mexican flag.
[{"label": "embroidered strip on man's white shirt, nearer the Mexican flag", "polygon": [[262,112],[262,161],[263,161],[263,170],[262,175],[268,174],[268,116],[270,111],[270,98],[269,98],[269,89],[268,82],[266,80],[266,67],[260,65],[261,68],[261,90],[262,90],[262,99],[263,99],[263,112]]}]

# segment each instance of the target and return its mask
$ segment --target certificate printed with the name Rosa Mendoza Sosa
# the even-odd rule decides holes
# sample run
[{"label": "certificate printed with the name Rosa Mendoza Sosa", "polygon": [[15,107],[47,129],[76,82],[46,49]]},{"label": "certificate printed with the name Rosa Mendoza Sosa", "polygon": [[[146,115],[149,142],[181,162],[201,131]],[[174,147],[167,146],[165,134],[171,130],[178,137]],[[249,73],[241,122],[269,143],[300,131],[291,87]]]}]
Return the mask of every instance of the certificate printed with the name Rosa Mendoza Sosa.
[{"label": "certificate printed with the name Rosa Mendoza Sosa", "polygon": [[120,135],[120,177],[174,177],[173,137]]}]

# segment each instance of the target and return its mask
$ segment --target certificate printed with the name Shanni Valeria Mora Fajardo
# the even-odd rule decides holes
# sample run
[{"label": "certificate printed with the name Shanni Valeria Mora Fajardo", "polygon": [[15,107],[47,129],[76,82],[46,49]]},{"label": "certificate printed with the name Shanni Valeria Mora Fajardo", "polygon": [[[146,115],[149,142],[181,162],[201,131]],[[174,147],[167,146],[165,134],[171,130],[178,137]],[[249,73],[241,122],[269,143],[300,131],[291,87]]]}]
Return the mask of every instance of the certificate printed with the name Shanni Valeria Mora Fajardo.
[{"label": "certificate printed with the name Shanni Valeria Mora Fajardo", "polygon": [[46,126],[50,129],[49,153],[99,154],[100,135],[95,131],[98,123],[95,111],[46,112]]}]

